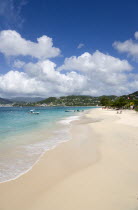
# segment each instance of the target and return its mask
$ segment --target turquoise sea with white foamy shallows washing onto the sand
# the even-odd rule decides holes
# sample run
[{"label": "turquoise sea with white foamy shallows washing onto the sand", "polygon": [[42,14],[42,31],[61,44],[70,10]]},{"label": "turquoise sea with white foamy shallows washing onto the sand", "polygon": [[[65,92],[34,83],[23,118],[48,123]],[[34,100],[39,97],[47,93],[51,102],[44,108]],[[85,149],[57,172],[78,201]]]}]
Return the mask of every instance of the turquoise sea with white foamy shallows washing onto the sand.
[{"label": "turquoise sea with white foamy shallows washing onto the sand", "polygon": [[46,151],[69,141],[72,121],[93,108],[35,107],[37,115],[30,113],[34,107],[0,107],[0,182],[16,179]]}]

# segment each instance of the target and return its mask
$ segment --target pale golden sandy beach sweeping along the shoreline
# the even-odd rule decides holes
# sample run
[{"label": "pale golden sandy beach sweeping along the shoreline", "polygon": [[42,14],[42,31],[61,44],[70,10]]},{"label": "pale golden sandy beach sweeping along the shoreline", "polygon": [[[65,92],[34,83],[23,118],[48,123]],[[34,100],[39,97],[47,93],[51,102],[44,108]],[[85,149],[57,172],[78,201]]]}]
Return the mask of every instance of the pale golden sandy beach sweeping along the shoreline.
[{"label": "pale golden sandy beach sweeping along the shoreline", "polygon": [[1,210],[138,209],[138,113],[93,109],[71,135],[0,184]]}]

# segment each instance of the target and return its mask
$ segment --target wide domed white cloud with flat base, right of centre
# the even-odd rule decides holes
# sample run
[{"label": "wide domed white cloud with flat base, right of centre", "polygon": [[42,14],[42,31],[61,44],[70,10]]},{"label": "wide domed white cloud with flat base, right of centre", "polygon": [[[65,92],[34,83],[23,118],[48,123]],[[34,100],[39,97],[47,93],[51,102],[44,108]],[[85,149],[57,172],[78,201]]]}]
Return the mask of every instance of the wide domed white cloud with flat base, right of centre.
[{"label": "wide domed white cloud with flat base, right of centre", "polygon": [[127,60],[120,60],[97,50],[93,54],[85,52],[79,57],[72,56],[66,58],[64,64],[58,70],[112,73],[116,71],[130,71],[132,70],[132,66]]}]

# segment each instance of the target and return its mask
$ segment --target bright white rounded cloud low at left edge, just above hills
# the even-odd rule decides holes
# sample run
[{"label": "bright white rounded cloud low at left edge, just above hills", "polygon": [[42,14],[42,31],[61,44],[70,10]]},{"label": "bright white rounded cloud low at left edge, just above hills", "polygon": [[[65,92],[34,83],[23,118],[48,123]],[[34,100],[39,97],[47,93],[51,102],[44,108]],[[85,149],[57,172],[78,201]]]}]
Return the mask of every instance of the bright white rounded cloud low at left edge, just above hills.
[{"label": "bright white rounded cloud low at left edge, just above hills", "polygon": [[40,81],[28,77],[24,72],[9,71],[0,76],[0,93],[2,96],[40,95],[43,94]]}]

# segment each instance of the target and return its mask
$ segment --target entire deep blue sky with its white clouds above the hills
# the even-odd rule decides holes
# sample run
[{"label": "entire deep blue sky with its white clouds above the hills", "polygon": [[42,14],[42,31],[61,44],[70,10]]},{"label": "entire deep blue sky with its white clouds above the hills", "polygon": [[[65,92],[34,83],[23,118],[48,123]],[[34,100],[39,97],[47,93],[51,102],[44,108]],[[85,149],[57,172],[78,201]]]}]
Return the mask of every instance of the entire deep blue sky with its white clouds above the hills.
[{"label": "entire deep blue sky with its white clouds above the hills", "polygon": [[137,0],[0,0],[0,97],[138,90]]}]

